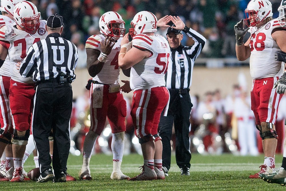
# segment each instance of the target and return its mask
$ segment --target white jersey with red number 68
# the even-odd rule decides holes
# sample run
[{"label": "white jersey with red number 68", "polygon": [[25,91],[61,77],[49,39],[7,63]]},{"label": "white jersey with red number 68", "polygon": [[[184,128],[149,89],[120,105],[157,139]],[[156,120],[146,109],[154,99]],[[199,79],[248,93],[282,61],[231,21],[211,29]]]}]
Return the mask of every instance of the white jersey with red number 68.
[{"label": "white jersey with red number 68", "polygon": [[281,27],[277,19],[273,19],[261,26],[250,27],[251,34],[249,47],[250,75],[254,79],[281,76],[284,71],[284,62],[275,60],[275,52],[280,50],[271,33],[273,29]]}]

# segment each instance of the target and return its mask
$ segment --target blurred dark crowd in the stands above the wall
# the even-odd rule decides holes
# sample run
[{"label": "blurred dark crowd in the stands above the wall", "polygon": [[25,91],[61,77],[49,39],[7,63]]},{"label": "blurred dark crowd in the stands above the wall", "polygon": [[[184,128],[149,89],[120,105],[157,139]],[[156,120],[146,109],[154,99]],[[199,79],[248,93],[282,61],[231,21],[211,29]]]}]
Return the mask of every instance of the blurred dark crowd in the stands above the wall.
[{"label": "blurred dark crowd in the stands above the wall", "polygon": [[[150,11],[157,19],[176,15],[186,26],[198,31],[207,42],[200,57],[236,57],[233,26],[245,18],[248,0],[31,0],[41,12],[42,19],[48,15],[63,15],[63,37],[78,47],[78,68],[86,67],[85,42],[88,37],[99,34],[98,21],[106,11],[116,11],[124,19],[126,33],[130,21],[139,11]],[[271,1],[273,17],[278,16],[279,0]],[[167,28],[159,28],[158,34],[166,36]],[[247,38],[245,38],[247,39]],[[184,35],[182,44],[193,41]]]}]

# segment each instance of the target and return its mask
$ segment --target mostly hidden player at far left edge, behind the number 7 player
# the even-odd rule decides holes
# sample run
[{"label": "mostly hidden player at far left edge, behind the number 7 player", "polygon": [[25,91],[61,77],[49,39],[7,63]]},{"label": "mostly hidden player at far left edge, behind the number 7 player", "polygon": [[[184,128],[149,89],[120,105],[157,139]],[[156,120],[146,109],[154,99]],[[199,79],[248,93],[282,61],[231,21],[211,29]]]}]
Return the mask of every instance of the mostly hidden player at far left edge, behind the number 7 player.
[{"label": "mostly hidden player at far left edge, behind the number 7 player", "polygon": [[[2,0],[0,11],[2,15],[0,15],[0,27],[2,25],[11,25],[15,23],[13,21],[13,10],[17,3],[23,0]],[[2,61],[3,62],[3,61]],[[8,170],[8,172],[0,172],[0,181],[9,181],[12,178],[14,166],[13,164],[13,153],[12,153],[12,144],[11,138],[13,134],[13,127],[11,124],[11,116],[10,116],[10,107],[9,107],[9,87],[10,87],[10,61],[9,56],[5,58],[5,61],[2,63],[0,68],[0,156],[3,154],[5,149],[5,157],[3,157],[3,161],[1,160],[1,164],[3,162],[3,170]],[[7,160],[6,160],[7,158]],[[6,166],[7,162],[7,166]],[[6,168],[7,167],[7,168]]]}]

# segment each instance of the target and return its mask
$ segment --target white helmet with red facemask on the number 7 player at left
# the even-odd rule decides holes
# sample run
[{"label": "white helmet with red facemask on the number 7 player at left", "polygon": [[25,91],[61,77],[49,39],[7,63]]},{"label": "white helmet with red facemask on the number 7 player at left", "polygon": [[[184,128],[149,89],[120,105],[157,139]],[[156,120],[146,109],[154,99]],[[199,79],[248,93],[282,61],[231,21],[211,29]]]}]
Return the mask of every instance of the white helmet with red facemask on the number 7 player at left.
[{"label": "white helmet with red facemask on the number 7 player at left", "polygon": [[21,1],[15,5],[14,21],[27,33],[35,34],[40,26],[40,13],[36,5],[29,1]]}]

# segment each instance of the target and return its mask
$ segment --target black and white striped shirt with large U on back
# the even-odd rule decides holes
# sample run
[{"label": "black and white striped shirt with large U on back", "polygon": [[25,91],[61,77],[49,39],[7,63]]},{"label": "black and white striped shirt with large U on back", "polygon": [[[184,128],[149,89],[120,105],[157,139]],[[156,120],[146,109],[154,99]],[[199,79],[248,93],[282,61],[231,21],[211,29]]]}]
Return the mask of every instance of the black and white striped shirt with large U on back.
[{"label": "black and white striped shirt with large U on back", "polygon": [[35,82],[56,78],[59,73],[76,78],[74,69],[78,62],[77,47],[61,37],[51,33],[46,39],[34,43],[20,66],[22,77],[32,77]]}]

